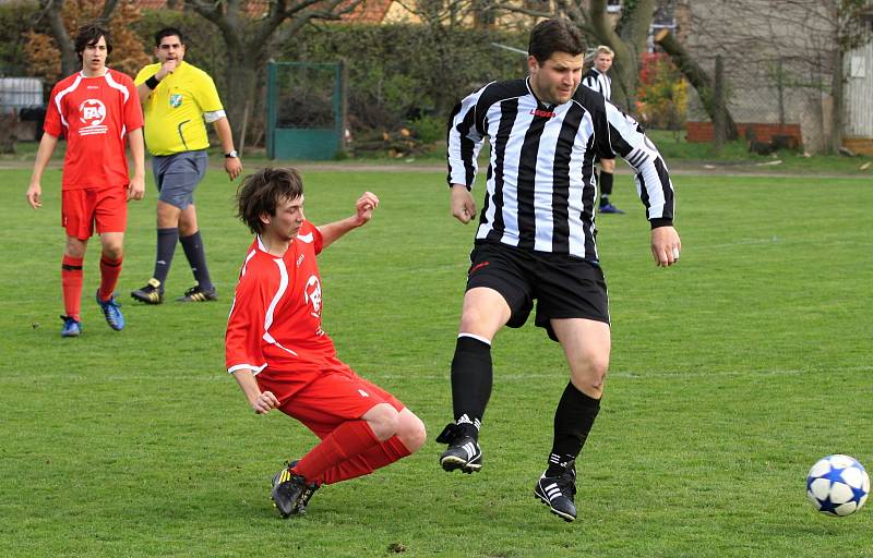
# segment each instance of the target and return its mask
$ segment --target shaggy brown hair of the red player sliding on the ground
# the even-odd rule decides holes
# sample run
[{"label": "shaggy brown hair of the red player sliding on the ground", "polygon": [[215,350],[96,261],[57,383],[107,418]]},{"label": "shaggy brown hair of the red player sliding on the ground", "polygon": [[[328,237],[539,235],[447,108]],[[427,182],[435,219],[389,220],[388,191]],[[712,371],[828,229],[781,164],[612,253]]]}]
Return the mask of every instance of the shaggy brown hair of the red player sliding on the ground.
[{"label": "shaggy brown hair of the red player sliding on the ground", "polygon": [[237,217],[253,234],[264,230],[262,215],[276,215],[279,201],[303,195],[303,179],[297,169],[265,168],[246,177],[237,189]]}]

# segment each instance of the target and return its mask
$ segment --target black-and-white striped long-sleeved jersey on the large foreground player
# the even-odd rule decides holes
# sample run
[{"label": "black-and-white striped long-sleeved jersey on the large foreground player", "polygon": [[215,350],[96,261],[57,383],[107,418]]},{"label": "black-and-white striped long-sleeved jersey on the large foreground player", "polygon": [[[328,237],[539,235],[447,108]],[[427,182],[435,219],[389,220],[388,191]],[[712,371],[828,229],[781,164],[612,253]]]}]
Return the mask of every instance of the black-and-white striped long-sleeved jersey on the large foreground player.
[{"label": "black-and-white striped long-sleeved jersey on the large foreground player", "polygon": [[543,105],[527,80],[492,82],[452,111],[449,183],[473,189],[490,143],[477,241],[599,260],[595,244],[595,155],[624,158],[653,227],[673,220],[673,185],[658,149],[631,117],[587,87]]}]

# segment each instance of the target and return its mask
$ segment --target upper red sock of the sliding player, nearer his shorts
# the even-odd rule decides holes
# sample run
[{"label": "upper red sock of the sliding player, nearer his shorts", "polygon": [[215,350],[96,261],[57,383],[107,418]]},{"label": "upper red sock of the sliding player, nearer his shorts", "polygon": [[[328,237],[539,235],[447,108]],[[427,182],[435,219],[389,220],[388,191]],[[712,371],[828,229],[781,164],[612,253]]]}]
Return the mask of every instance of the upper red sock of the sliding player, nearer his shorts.
[{"label": "upper red sock of the sliding player, nearer his shorts", "polygon": [[318,481],[326,471],[374,446],[381,446],[381,442],[367,421],[349,421],[303,456],[291,472],[308,482]]}]

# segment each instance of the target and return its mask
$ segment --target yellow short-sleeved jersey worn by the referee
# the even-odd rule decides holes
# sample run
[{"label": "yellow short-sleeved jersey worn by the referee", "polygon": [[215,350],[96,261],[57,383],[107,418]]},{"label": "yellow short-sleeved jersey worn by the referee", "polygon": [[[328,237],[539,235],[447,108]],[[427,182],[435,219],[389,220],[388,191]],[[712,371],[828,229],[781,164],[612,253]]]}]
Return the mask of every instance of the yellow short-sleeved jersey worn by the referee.
[{"label": "yellow short-sleeved jersey worn by the referee", "polygon": [[[136,74],[137,86],[160,70],[150,64]],[[172,155],[210,146],[204,112],[222,110],[222,99],[212,77],[186,61],[160,81],[143,104],[145,145],[152,155]]]}]

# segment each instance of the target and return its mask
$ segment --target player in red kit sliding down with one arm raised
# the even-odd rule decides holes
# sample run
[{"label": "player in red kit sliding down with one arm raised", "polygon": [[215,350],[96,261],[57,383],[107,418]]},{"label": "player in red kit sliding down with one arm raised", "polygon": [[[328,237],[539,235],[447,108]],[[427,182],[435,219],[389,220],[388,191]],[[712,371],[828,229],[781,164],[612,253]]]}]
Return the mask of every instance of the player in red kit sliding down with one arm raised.
[{"label": "player in red kit sliding down with one arm raised", "polygon": [[303,217],[303,184],[294,169],[264,169],[237,193],[239,218],[255,234],[227,324],[227,372],[258,414],[273,409],[309,427],[319,442],[273,478],[283,518],[306,510],[312,493],[411,454],[424,425],[391,393],[336,356],[321,327],[315,256],[366,225],[379,198],[366,192],[355,215],[315,227]]}]

